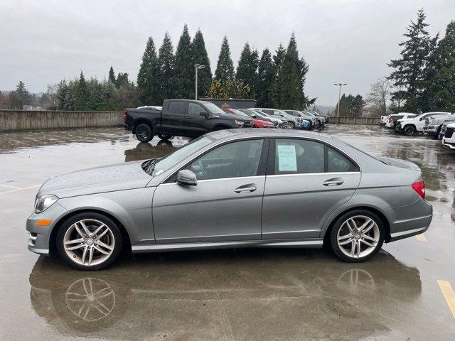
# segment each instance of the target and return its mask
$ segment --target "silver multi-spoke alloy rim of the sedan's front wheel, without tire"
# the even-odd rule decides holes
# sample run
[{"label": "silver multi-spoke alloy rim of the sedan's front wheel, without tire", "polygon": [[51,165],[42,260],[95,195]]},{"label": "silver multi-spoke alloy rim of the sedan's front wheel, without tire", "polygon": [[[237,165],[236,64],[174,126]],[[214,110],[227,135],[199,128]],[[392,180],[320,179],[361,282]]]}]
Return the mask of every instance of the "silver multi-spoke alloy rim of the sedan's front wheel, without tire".
[{"label": "silver multi-spoke alloy rim of the sedan's front wheel, without tire", "polygon": [[105,223],[94,219],[79,220],[65,232],[63,247],[68,258],[76,264],[95,266],[112,255],[115,238]]}]

